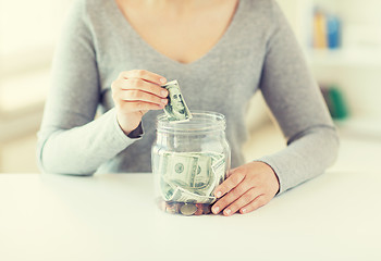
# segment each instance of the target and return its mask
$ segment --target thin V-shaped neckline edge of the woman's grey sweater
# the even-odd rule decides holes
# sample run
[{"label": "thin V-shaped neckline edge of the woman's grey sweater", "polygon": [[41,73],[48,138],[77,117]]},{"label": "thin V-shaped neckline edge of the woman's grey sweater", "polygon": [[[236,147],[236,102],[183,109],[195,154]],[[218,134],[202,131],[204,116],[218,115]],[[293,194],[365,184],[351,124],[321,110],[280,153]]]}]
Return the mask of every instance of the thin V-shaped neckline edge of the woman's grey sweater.
[{"label": "thin V-shaped neckline edge of the woman's grey sweater", "polygon": [[[128,34],[128,37],[134,37],[140,44],[140,46],[143,48],[145,48],[148,52],[150,52],[152,55],[159,57],[161,60],[164,60],[168,63],[174,64],[175,66],[193,66],[193,65],[201,63],[204,60],[207,60],[208,58],[212,57],[212,54],[218,52],[218,50],[221,49],[223,45],[229,42],[230,35],[232,35],[232,33],[235,30],[235,27],[237,26],[237,23],[238,23],[237,21],[241,20],[241,14],[242,14],[243,9],[244,9],[243,2],[245,2],[245,0],[238,0],[237,7],[235,8],[235,12],[233,14],[233,17],[231,18],[231,22],[228,25],[228,28],[224,30],[224,33],[218,39],[218,41],[206,53],[204,53],[201,57],[199,57],[198,59],[196,59],[195,61],[189,62],[189,63],[179,62],[179,61],[163,54],[162,52],[158,51],[157,49],[155,49],[132,26],[132,24],[128,22],[128,20],[124,16],[122,10],[118,7],[116,1],[110,0],[109,2],[112,2],[111,8],[115,12],[115,17],[118,20],[118,23],[120,25],[122,25],[121,29],[127,29],[128,32],[131,32]],[[127,28],[125,28],[124,26],[126,26]]]}]

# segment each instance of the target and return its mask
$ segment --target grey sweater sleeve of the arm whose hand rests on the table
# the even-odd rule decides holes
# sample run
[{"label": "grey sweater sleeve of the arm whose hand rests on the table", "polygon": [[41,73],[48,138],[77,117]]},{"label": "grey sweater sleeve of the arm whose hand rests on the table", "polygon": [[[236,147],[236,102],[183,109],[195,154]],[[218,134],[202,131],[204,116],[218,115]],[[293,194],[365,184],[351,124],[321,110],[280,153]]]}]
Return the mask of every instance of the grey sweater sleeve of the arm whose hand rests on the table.
[{"label": "grey sweater sleeve of the arm whose hand rests on the table", "polygon": [[282,11],[274,1],[260,89],[287,139],[287,147],[258,161],[270,165],[279,194],[305,182],[336,159],[339,138],[322,95]]}]

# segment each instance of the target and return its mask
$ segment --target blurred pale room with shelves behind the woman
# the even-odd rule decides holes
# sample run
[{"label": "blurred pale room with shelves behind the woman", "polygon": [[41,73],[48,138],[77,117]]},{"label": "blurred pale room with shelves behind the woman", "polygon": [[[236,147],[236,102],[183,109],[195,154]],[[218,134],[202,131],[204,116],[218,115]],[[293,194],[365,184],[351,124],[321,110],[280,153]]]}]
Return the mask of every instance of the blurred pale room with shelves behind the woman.
[{"label": "blurred pale room with shelves behind the woman", "polygon": [[[73,0],[0,1],[0,173],[36,173],[50,64]],[[112,1],[112,0],[110,0]],[[278,0],[341,135],[332,169],[377,170],[381,154],[381,1]],[[254,159],[285,146],[258,94],[246,115]]]}]

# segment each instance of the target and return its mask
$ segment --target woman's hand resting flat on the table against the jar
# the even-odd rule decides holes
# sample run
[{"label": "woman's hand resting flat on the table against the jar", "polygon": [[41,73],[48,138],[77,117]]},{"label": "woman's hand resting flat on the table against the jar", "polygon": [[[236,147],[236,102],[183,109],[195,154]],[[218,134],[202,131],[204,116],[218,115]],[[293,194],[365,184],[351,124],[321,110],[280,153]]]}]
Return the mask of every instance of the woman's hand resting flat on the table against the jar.
[{"label": "woman's hand resting flat on the table against the jar", "polygon": [[233,169],[229,177],[216,188],[220,198],[212,212],[232,215],[239,211],[249,213],[267,204],[278,192],[279,182],[273,170],[263,162],[250,162]]}]

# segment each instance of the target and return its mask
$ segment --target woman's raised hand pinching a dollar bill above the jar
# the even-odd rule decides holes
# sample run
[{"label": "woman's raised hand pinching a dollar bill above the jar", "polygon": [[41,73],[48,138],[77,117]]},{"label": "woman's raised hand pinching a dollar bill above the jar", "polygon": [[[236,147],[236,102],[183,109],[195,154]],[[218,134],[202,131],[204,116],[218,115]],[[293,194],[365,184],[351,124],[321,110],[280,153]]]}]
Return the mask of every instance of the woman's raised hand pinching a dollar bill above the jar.
[{"label": "woman's raised hand pinching a dollar bill above the jar", "polygon": [[118,122],[126,135],[139,125],[149,110],[165,107],[168,90],[160,87],[165,83],[164,77],[145,70],[122,72],[112,83]]}]

